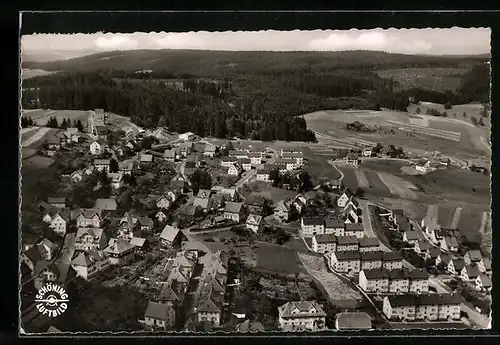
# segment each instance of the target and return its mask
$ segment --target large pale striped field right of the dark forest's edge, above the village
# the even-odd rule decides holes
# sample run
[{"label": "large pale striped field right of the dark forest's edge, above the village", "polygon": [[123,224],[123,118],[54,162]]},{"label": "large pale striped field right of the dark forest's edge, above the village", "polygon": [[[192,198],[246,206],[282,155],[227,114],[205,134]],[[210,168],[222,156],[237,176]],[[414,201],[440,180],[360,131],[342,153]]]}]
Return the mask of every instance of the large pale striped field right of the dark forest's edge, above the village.
[{"label": "large pale striped field right of the dark forest's edge, above the village", "polygon": [[[477,108],[477,105],[457,105],[454,108]],[[403,147],[405,151],[440,151],[461,159],[477,158],[489,154],[489,124],[478,128],[470,120],[415,115],[409,112],[370,110],[325,110],[303,115],[309,129],[317,133],[324,146],[363,147],[375,143]],[[476,112],[479,112],[477,109]],[[425,114],[425,111],[421,112]],[[347,123],[360,121],[375,132],[352,132]],[[487,121],[489,122],[489,121]],[[449,133],[452,132],[452,133]],[[457,145],[458,144],[458,145]],[[458,148],[458,150],[457,150]]]}]

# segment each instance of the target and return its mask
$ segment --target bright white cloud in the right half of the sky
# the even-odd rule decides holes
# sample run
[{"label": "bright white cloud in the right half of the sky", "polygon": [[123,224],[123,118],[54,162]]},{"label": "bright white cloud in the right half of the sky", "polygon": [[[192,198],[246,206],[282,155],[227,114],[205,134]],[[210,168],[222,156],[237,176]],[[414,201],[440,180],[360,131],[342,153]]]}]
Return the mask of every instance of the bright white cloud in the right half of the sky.
[{"label": "bright white cloud in the right half of the sky", "polygon": [[426,53],[432,44],[422,40],[403,40],[381,31],[356,33],[332,33],[309,42],[309,49],[319,51],[379,50],[386,52],[419,54]]}]

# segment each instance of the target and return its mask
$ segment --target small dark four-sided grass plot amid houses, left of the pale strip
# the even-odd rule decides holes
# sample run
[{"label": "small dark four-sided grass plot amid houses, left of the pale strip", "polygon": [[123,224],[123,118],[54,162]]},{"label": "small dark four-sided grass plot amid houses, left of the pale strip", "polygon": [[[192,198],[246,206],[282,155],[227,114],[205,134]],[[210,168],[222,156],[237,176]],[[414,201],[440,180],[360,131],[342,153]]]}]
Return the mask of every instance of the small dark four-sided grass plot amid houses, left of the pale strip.
[{"label": "small dark four-sided grass plot amid houses, left of the pale strip", "polygon": [[283,275],[307,274],[297,252],[276,244],[257,244],[257,271]]}]

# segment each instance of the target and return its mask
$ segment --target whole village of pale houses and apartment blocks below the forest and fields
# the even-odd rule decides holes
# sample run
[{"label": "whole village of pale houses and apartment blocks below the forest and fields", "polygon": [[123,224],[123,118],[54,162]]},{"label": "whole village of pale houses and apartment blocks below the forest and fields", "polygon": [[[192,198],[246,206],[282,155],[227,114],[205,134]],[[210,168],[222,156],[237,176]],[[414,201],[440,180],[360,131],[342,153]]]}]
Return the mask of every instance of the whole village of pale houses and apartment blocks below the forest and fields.
[{"label": "whole village of pale houses and apartment blocks below the forest and fields", "polygon": [[[67,194],[38,202],[47,235],[23,242],[25,327],[64,332],[39,315],[36,290],[81,280],[144,291],[142,315],[130,320],[144,331],[353,330],[412,322],[432,328],[480,325],[489,314],[490,258],[436,217],[411,219],[349,190],[341,178],[313,185],[301,147],[165,128],[118,131],[102,109],[90,113],[86,128],[61,131],[40,152],[68,166]],[[374,151],[380,150],[345,152],[331,168],[356,166],[376,157]],[[438,157],[414,170],[448,164]],[[81,196],[90,192],[102,197]],[[287,253],[323,260],[325,279],[348,284],[371,312],[327,308],[328,297],[316,298],[327,287],[301,287],[305,273],[273,269],[289,266],[293,256],[281,248],[292,242]],[[268,313],[242,307],[238,295],[254,274],[288,275],[298,293]]]}]

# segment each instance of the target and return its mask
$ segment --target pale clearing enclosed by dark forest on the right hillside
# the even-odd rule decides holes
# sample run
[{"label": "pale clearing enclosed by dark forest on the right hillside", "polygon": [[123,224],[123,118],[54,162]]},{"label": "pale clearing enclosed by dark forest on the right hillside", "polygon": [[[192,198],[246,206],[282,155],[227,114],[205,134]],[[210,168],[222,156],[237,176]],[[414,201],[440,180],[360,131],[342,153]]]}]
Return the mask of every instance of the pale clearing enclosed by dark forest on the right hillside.
[{"label": "pale clearing enclosed by dark forest on the right hillside", "polygon": [[410,88],[455,91],[460,87],[461,76],[467,71],[466,68],[404,68],[380,70],[376,73],[382,78],[396,81],[396,91]]}]

